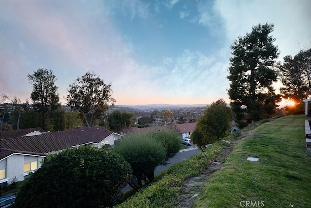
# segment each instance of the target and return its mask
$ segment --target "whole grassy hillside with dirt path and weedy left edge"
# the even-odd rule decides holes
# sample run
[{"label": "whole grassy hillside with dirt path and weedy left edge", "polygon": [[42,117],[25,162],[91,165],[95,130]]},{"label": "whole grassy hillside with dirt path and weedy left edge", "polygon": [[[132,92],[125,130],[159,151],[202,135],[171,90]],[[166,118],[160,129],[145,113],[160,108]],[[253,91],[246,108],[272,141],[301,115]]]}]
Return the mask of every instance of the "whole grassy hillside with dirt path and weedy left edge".
[{"label": "whole grassy hillside with dirt path and weedy left edge", "polygon": [[200,153],[173,165],[117,207],[309,208],[305,119],[291,115],[252,124],[207,148],[207,157],[221,164],[208,164]]}]

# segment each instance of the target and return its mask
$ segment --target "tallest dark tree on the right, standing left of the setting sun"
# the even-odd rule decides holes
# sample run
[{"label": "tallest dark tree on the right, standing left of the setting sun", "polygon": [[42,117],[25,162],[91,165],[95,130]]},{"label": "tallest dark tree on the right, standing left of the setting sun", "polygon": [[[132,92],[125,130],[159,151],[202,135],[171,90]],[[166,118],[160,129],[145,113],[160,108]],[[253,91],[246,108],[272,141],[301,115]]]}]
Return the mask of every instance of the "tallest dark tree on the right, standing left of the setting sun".
[{"label": "tallest dark tree on the right, standing left of the setting sun", "polygon": [[228,95],[240,121],[245,115],[253,121],[271,116],[281,99],[272,86],[277,81],[274,66],[279,55],[276,39],[270,35],[273,27],[253,26],[250,33],[239,36],[231,46]]}]

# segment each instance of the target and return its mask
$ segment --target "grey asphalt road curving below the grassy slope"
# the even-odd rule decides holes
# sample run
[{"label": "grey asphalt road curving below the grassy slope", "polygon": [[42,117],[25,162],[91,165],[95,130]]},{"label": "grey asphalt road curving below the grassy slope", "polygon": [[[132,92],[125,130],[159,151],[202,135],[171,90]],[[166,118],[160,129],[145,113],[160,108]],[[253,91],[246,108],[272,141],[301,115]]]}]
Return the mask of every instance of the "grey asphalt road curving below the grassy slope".
[{"label": "grey asphalt road curving below the grassy slope", "polygon": [[[188,159],[191,156],[197,154],[201,152],[200,149],[192,149],[192,150],[184,150],[182,152],[177,153],[174,157],[172,157],[169,161],[168,164],[165,166],[157,166],[155,168],[155,176],[161,172],[163,172],[164,170],[170,168],[172,165],[174,165],[175,163],[179,163],[182,162],[183,159]],[[129,189],[131,189],[131,187],[129,185],[127,185],[126,187],[124,187],[122,189],[123,192],[128,191]]]}]

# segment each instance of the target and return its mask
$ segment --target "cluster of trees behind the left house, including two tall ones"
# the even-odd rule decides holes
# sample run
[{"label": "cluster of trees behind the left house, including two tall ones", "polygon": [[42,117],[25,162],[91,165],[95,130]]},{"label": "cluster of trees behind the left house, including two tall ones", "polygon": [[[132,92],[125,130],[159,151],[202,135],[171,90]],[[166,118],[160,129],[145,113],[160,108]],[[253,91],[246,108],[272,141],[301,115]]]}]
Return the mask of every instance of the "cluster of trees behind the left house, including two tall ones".
[{"label": "cluster of trees behind the left house, including two tall ones", "polygon": [[1,94],[1,121],[9,124],[8,129],[11,126],[14,129],[41,127],[46,131],[61,131],[83,125],[81,118],[87,126],[92,126],[104,116],[108,105],[115,102],[111,84],[104,84],[95,73],[87,72],[69,85],[67,101],[73,111],[60,106],[57,79],[52,70],[38,69],[28,74],[28,80],[33,85],[33,105],[28,100],[21,103],[17,97],[11,99]]}]

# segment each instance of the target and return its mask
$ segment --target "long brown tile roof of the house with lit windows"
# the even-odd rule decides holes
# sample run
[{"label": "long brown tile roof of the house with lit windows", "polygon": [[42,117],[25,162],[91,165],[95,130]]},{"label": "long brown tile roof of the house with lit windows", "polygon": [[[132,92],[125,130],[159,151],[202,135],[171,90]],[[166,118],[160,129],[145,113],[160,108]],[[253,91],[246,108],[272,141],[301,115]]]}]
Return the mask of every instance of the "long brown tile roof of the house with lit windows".
[{"label": "long brown tile roof of the house with lit windows", "polygon": [[112,133],[104,127],[85,127],[35,136],[1,139],[0,147],[1,149],[46,154],[75,145],[99,143]]}]

